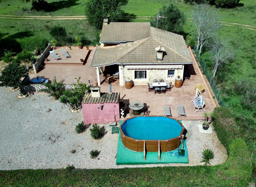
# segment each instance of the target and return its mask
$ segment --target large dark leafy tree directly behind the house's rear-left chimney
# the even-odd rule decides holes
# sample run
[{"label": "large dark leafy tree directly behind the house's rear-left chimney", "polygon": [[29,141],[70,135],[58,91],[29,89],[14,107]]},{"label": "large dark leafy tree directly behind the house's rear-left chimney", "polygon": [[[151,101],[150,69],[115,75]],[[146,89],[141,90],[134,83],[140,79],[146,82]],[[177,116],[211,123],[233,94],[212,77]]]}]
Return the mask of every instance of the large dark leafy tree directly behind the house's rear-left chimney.
[{"label": "large dark leafy tree directly behind the house's rear-left chimney", "polygon": [[125,14],[121,8],[123,0],[89,0],[86,3],[86,16],[88,21],[97,29],[102,28],[103,19],[115,22],[122,19]]}]

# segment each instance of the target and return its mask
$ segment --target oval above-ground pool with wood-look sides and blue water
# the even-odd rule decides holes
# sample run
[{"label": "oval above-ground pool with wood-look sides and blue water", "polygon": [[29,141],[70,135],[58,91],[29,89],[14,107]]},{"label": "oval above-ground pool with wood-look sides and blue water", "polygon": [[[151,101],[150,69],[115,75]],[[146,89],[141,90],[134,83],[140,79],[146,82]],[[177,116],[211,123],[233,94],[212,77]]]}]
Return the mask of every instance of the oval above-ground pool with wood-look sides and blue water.
[{"label": "oval above-ground pool with wood-look sides and blue water", "polygon": [[138,116],[123,121],[119,127],[122,144],[136,152],[169,152],[177,149],[183,125],[165,116]]}]

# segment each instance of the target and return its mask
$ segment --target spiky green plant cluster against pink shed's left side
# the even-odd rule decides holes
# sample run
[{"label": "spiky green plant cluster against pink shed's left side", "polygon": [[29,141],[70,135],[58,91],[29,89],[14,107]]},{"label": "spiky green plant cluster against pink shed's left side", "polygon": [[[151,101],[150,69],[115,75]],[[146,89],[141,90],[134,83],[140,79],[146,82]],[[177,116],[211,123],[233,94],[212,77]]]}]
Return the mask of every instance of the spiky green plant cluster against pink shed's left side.
[{"label": "spiky green plant cluster against pink shed's left side", "polygon": [[77,110],[82,104],[83,96],[83,92],[77,90],[65,90],[59,100],[61,103]]}]

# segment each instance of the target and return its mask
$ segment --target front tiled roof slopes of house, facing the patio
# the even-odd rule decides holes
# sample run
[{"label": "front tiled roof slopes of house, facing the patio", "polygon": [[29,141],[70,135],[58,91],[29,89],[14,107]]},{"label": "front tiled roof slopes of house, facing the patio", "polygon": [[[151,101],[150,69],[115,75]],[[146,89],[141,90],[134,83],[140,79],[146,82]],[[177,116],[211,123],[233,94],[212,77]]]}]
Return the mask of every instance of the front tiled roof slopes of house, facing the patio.
[{"label": "front tiled roof slopes of house, facing the patio", "polygon": [[[183,38],[182,38],[183,39]],[[184,40],[184,39],[183,39]],[[185,47],[186,44],[184,43]],[[155,48],[165,48],[163,60],[156,59]],[[187,47],[185,50],[188,50]],[[182,51],[182,50],[180,50]],[[172,47],[166,45],[153,36],[143,40],[130,42],[118,46],[98,46],[91,67],[107,64],[189,64],[192,63],[190,56],[178,53]]]}]

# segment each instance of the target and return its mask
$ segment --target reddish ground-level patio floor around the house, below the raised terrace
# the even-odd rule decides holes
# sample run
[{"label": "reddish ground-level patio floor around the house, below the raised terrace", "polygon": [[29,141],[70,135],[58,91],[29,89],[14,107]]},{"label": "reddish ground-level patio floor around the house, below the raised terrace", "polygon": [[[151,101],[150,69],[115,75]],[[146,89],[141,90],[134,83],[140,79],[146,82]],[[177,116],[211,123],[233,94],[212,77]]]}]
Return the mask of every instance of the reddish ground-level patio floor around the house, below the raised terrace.
[{"label": "reddish ground-level patio floor around the house, below the raised terrace", "polygon": [[[95,48],[91,48],[92,51],[87,59],[87,63],[83,66],[76,65],[45,65],[44,69],[41,70],[37,74],[30,74],[30,78],[32,77],[46,77],[52,79],[56,76],[57,80],[65,79],[65,83],[73,83],[76,82],[74,80],[75,77],[81,76],[81,81],[88,83],[88,80],[93,82],[96,76],[96,69],[90,68],[91,60],[93,58],[93,54]],[[194,108],[193,103],[190,103],[192,98],[195,96],[195,84],[202,83],[205,87],[205,92],[202,94],[204,101],[206,103],[205,110],[210,112],[214,110],[216,107],[208,90],[205,85],[204,79],[201,76],[198,65],[191,55],[193,60],[193,64],[189,65],[189,72],[191,74],[190,79],[186,79],[181,88],[172,88],[171,91],[167,91],[166,94],[154,94],[154,92],[148,92],[148,86],[133,86],[132,89],[127,90],[125,86],[119,85],[119,80],[115,80],[112,83],[112,92],[120,92],[121,101],[125,104],[131,103],[134,101],[139,101],[142,103],[147,103],[149,106],[148,110],[150,111],[150,115],[163,115],[163,106],[169,105],[171,108],[171,113],[173,117],[177,119],[203,119],[202,111],[198,111],[194,113],[196,110]],[[103,69],[104,70],[104,69]],[[33,75],[33,76],[32,76]],[[109,92],[108,83],[104,82],[104,77],[101,75],[101,92]],[[174,84],[174,83],[173,83]],[[185,113],[187,117],[177,117],[177,105],[184,105]],[[126,105],[125,105],[126,106]],[[125,107],[126,109],[126,107]],[[129,115],[127,115],[129,117]]]}]

